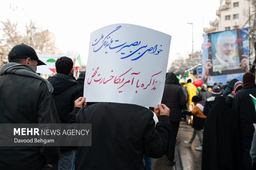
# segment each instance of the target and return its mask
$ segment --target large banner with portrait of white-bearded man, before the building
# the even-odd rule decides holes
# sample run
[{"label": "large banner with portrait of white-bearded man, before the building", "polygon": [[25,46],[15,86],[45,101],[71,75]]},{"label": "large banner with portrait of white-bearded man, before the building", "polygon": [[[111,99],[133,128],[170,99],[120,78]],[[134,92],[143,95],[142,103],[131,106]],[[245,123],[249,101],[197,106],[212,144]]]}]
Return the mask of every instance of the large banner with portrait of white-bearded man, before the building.
[{"label": "large banner with portrait of white-bearded man, before the building", "polygon": [[207,84],[242,81],[248,72],[248,28],[204,35],[203,79]]}]

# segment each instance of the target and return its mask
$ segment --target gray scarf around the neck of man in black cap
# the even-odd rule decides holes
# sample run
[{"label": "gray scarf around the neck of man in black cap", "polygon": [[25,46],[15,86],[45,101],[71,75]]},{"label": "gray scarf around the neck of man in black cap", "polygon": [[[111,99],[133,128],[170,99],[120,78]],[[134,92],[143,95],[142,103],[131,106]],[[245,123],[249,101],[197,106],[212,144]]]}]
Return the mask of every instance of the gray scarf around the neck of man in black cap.
[{"label": "gray scarf around the neck of man in black cap", "polygon": [[53,92],[52,84],[50,84],[50,82],[48,82],[46,79],[36,74],[36,70],[30,65],[19,64],[19,63],[7,63],[3,65],[2,68],[0,69],[0,76],[8,73],[40,79],[43,82],[45,82],[45,84],[47,85],[49,93]]}]

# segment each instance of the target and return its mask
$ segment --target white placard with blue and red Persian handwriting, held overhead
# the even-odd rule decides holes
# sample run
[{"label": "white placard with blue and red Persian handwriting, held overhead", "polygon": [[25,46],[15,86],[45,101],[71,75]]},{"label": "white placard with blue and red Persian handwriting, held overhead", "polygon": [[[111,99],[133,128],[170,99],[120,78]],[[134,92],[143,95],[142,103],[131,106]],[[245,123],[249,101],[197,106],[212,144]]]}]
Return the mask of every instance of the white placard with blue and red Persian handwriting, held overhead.
[{"label": "white placard with blue and red Persian handwriting, held overhead", "polygon": [[170,43],[170,35],[130,24],[91,33],[86,101],[156,107],[164,91]]}]

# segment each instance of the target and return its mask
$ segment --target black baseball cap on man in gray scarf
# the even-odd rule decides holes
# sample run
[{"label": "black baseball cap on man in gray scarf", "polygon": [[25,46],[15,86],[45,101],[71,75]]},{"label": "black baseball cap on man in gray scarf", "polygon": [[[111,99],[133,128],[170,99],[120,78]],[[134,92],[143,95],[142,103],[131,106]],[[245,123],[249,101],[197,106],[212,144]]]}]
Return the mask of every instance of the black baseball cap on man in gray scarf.
[{"label": "black baseball cap on man in gray scarf", "polygon": [[32,48],[29,47],[26,44],[19,44],[15,45],[11,51],[14,51],[16,53],[15,58],[31,58],[31,59],[36,59],[38,61],[37,65],[46,65],[43,61],[40,61],[38,59],[38,56],[36,55],[36,51]]}]

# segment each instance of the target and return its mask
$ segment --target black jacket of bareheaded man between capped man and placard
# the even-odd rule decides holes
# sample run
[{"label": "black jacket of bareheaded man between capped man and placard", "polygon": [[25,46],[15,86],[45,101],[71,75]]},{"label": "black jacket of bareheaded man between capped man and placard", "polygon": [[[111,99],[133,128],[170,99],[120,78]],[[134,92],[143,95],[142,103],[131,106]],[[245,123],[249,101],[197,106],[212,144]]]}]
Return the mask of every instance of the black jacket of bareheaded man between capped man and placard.
[{"label": "black jacket of bareheaded man between capped man and placard", "polygon": [[59,115],[60,123],[68,123],[69,113],[74,108],[74,102],[83,97],[81,83],[73,80],[69,75],[57,73],[49,77],[48,81],[53,86],[53,99]]}]

